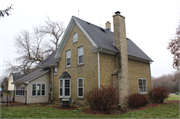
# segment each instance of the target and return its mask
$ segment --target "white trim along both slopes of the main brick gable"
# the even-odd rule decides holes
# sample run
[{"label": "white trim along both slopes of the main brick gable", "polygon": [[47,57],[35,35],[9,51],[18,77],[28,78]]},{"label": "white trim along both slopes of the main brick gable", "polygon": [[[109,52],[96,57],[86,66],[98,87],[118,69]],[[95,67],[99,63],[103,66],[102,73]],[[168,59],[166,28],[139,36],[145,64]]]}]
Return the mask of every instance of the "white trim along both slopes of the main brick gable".
[{"label": "white trim along both slopes of the main brick gable", "polygon": [[88,33],[82,28],[82,26],[77,22],[77,20],[74,18],[74,17],[72,17],[71,18],[71,20],[70,20],[70,22],[69,22],[69,24],[68,24],[68,27],[67,27],[67,29],[66,29],[66,31],[65,31],[65,33],[64,33],[64,36],[63,36],[63,38],[62,38],[62,40],[61,40],[61,43],[60,43],[60,45],[58,46],[58,50],[57,50],[57,52],[56,52],[56,55],[55,55],[55,59],[57,59],[57,58],[61,58],[61,53],[62,53],[62,51],[63,51],[63,49],[64,49],[64,46],[66,45],[66,42],[67,42],[67,40],[68,40],[68,38],[69,38],[69,35],[71,34],[71,31],[72,31],[72,29],[73,29],[73,27],[74,27],[74,25],[75,24],[77,24],[77,26],[82,30],[82,32],[85,34],[85,36],[89,39],[89,41],[92,43],[92,45],[93,46],[97,46],[96,45],[96,43],[92,40],[92,38],[88,35]]}]

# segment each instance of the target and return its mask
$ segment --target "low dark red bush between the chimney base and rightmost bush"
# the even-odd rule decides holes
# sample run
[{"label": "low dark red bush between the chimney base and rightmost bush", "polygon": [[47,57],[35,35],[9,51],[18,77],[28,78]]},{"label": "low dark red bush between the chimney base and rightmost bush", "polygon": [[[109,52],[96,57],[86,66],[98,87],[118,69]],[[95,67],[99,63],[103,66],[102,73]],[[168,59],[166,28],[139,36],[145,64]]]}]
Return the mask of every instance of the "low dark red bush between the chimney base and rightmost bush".
[{"label": "low dark red bush between the chimney base and rightmost bush", "polygon": [[142,94],[132,94],[128,96],[128,104],[132,108],[138,108],[145,106],[148,103],[148,99]]}]

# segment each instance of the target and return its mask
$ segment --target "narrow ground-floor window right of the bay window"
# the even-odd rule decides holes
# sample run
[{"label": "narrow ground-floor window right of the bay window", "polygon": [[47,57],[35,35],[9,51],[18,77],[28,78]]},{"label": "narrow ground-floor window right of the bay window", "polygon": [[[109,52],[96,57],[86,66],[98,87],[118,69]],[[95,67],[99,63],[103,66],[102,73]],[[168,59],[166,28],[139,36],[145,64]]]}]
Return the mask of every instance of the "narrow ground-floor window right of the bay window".
[{"label": "narrow ground-floor window right of the bay window", "polygon": [[84,96],[84,82],[83,78],[78,78],[77,80],[77,92],[78,92],[78,97],[83,97]]}]

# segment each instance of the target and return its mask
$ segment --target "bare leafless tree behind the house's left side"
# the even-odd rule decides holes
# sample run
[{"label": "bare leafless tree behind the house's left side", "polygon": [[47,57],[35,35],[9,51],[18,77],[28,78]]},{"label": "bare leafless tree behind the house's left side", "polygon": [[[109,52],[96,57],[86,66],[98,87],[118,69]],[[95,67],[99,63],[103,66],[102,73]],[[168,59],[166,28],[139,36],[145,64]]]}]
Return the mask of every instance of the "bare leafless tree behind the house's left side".
[{"label": "bare leafless tree behind the house's left side", "polygon": [[29,74],[36,70],[38,65],[52,52],[59,44],[64,33],[62,22],[54,22],[49,18],[45,25],[33,28],[33,33],[23,30],[15,37],[15,47],[19,57],[12,61],[5,61],[7,72],[21,72]]}]

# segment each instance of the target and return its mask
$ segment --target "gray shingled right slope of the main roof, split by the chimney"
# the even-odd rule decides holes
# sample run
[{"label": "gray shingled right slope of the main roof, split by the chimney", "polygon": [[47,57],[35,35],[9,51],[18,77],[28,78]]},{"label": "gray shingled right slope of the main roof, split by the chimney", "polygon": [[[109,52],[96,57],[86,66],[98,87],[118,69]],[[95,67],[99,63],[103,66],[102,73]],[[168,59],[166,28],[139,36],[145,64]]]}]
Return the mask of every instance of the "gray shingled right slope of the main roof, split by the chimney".
[{"label": "gray shingled right slope of the main roof, split by the chimney", "polygon": [[[74,17],[74,16],[73,16]],[[113,47],[114,33],[104,28],[86,22],[82,19],[74,17],[77,22],[83,27],[88,35],[94,40],[98,47],[118,52],[117,48]],[[128,54],[148,61],[152,61],[132,40],[127,38]]]}]

